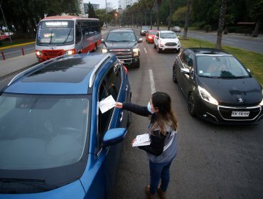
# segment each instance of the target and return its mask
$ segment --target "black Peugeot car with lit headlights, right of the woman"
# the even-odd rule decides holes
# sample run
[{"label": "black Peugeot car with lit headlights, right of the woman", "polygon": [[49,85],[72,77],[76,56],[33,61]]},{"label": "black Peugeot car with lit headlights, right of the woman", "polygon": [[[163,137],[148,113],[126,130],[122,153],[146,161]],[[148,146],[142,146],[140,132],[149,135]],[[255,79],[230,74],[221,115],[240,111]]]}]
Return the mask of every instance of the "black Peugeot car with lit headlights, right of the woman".
[{"label": "black Peugeot car with lit headlights, right of the woman", "polygon": [[188,101],[188,112],[218,124],[258,124],[262,86],[242,63],[214,48],[186,48],[173,63],[173,82]]}]

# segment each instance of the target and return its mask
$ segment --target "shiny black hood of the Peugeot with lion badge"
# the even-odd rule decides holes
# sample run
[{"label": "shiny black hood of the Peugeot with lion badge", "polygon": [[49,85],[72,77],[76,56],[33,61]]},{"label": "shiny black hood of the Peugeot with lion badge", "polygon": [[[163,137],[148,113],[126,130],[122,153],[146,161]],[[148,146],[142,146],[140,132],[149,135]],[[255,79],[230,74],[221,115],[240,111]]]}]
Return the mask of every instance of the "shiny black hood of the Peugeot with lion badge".
[{"label": "shiny black hood of the Peugeot with lion badge", "polygon": [[251,106],[262,101],[262,87],[253,77],[241,79],[198,77],[198,85],[222,105]]}]

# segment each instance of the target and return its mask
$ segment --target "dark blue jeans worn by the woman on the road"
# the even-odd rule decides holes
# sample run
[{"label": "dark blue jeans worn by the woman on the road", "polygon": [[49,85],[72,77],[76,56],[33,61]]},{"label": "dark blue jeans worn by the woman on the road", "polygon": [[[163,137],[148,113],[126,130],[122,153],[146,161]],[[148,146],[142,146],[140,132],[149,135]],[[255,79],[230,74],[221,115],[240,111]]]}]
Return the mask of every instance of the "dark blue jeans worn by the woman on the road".
[{"label": "dark blue jeans worn by the woman on the road", "polygon": [[156,193],[156,190],[161,179],[161,190],[166,191],[168,188],[168,183],[170,181],[170,166],[173,159],[166,163],[153,163],[149,161],[150,166],[150,192],[152,194]]}]

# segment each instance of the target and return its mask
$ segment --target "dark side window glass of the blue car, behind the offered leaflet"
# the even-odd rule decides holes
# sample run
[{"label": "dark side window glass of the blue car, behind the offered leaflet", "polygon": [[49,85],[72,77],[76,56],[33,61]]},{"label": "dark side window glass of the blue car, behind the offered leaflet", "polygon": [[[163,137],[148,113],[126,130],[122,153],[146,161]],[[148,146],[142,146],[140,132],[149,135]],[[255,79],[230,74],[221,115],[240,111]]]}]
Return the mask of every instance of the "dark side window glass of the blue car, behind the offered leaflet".
[{"label": "dark side window glass of the blue car, behind the offered leaflet", "polygon": [[[102,83],[99,88],[99,102],[102,101],[102,99],[109,97],[109,95],[112,95],[112,97],[117,101],[117,97],[119,95],[119,90],[122,85],[122,73],[119,63],[115,63],[112,65],[112,68],[110,68],[106,75],[104,75]],[[97,131],[97,141],[98,146],[102,143],[102,138],[106,131],[109,128],[110,121],[112,119],[112,114],[114,112],[114,109],[109,109],[109,111],[99,112],[99,122],[98,122],[98,131]]]}]

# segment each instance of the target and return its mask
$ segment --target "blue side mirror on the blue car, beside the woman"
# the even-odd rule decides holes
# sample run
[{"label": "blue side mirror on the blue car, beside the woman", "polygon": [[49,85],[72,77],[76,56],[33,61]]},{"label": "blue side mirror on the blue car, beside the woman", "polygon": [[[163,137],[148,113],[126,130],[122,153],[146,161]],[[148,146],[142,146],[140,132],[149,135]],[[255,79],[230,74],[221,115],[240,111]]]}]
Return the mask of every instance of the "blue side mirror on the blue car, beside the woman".
[{"label": "blue side mirror on the blue car, beside the woman", "polygon": [[103,136],[102,146],[112,146],[114,144],[118,144],[124,140],[126,134],[127,129],[125,128],[109,129]]}]

